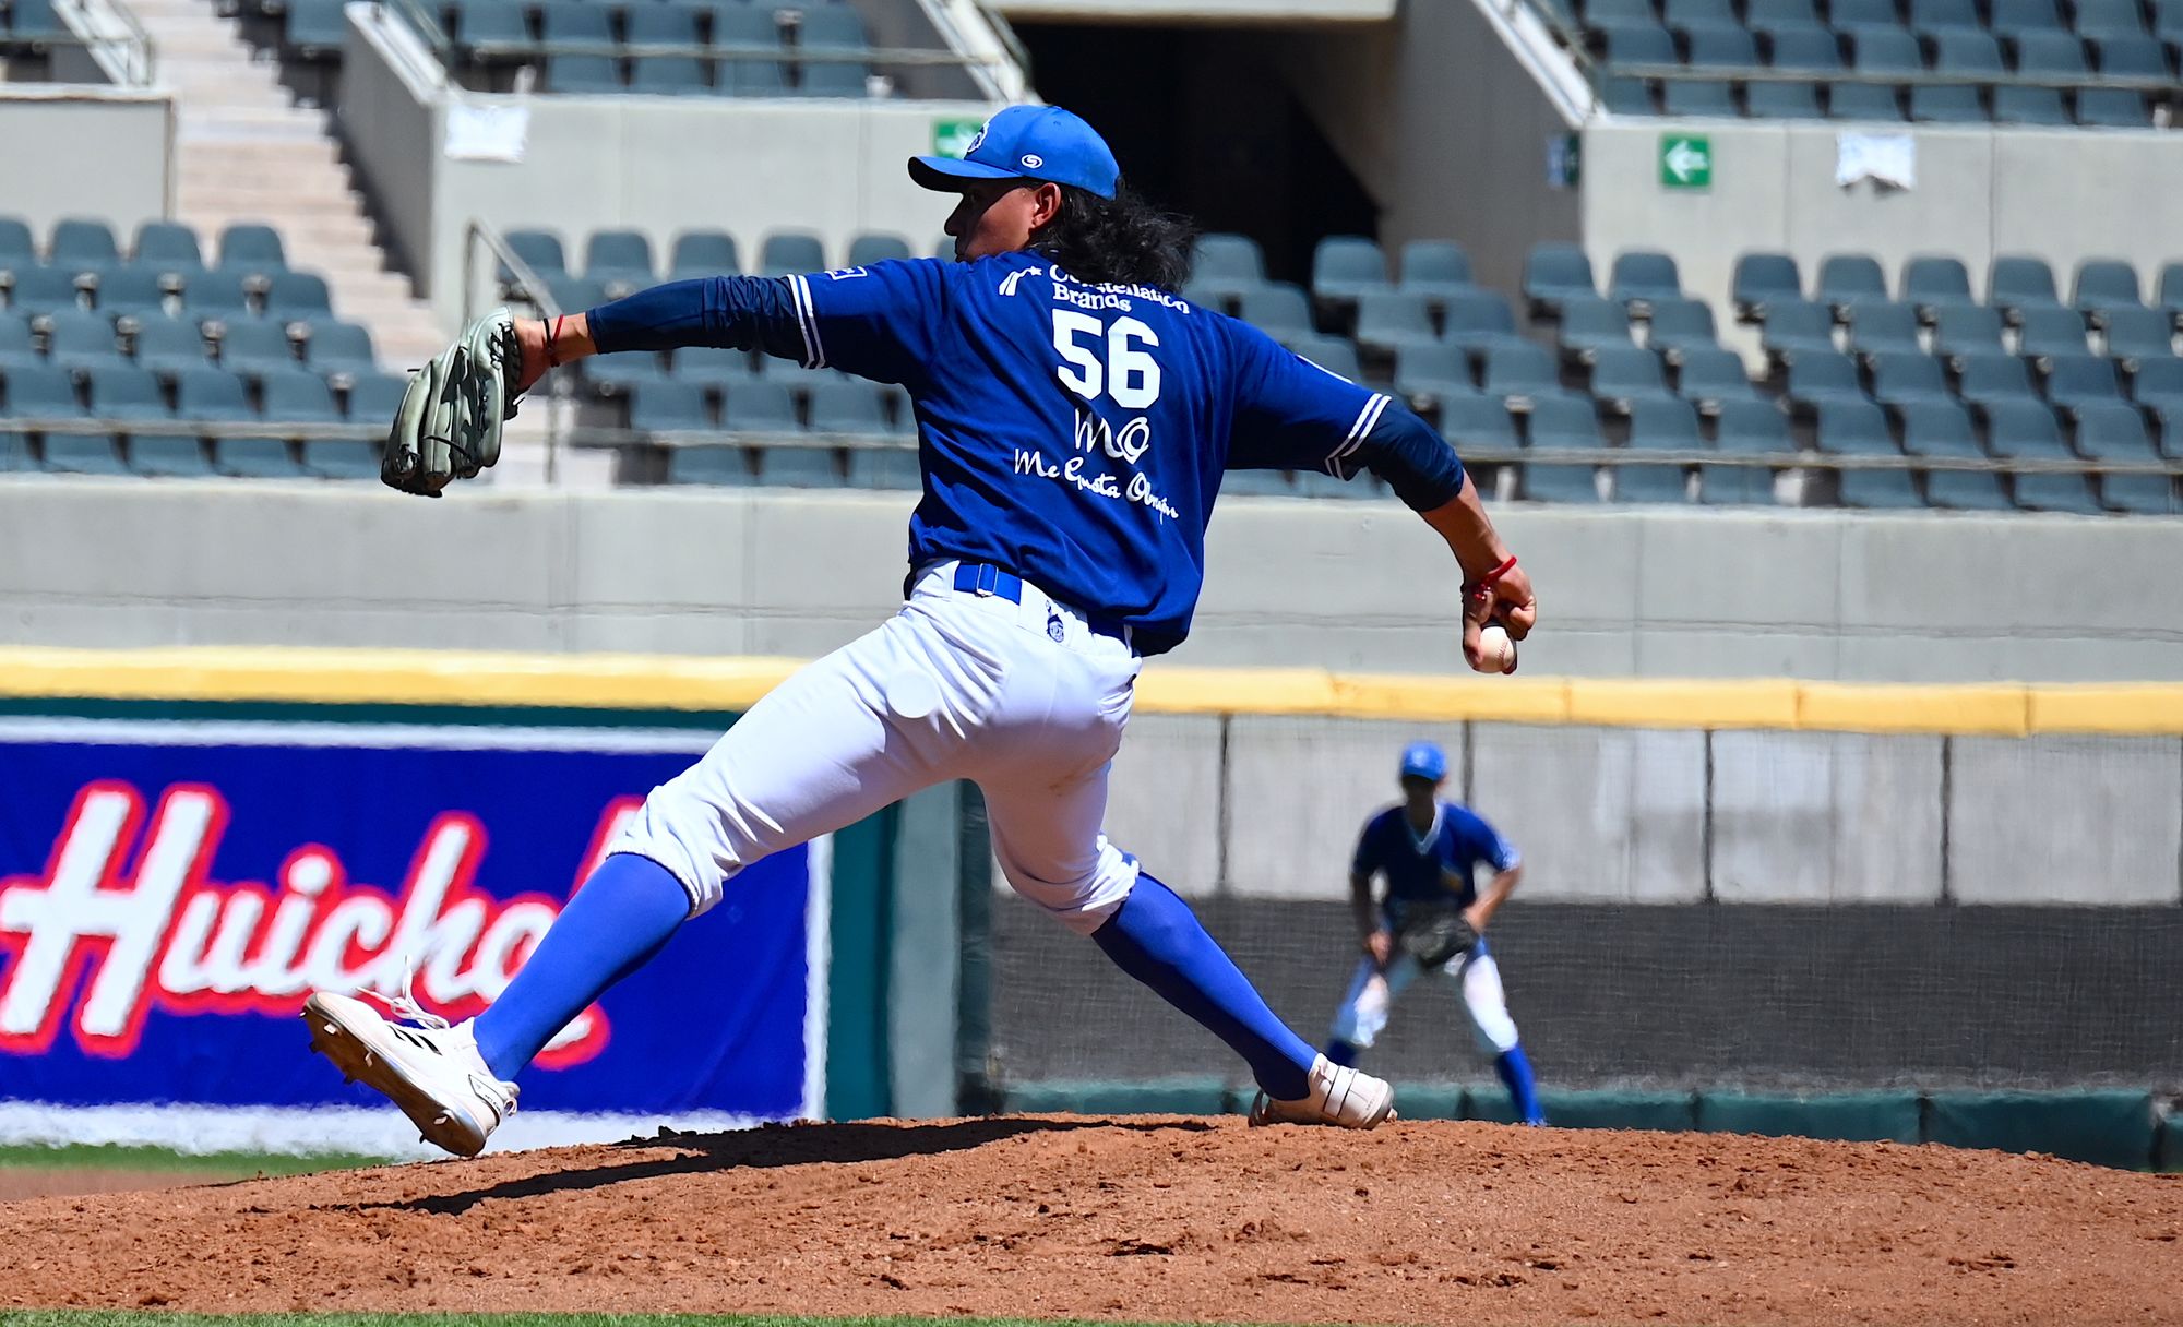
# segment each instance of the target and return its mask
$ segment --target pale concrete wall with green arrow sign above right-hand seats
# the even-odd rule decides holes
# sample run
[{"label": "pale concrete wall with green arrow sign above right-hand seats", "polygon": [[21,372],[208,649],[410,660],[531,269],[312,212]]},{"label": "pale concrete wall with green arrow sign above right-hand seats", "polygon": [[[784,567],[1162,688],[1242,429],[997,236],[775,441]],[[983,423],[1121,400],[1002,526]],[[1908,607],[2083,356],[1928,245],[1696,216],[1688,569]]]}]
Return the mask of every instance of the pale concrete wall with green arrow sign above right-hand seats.
[{"label": "pale concrete wall with green arrow sign above right-hand seats", "polygon": [[[1869,127],[1866,127],[1869,129]],[[1834,183],[1840,127],[1740,120],[1600,120],[1585,129],[1583,234],[1607,277],[1624,249],[1672,253],[1683,288],[1722,303],[1735,255],[1792,253],[1812,282],[1829,253],[1871,253],[1893,282],[1906,258],[1943,253],[1984,290],[1997,253],[2028,253],[2067,282],[2085,258],[2124,258],[2139,273],[2183,258],[2183,140],[2161,131],[1919,127],[1917,188]],[[1663,133],[1711,140],[1709,190],[1659,183]],[[1548,238],[1548,236],[1541,236]]]}]

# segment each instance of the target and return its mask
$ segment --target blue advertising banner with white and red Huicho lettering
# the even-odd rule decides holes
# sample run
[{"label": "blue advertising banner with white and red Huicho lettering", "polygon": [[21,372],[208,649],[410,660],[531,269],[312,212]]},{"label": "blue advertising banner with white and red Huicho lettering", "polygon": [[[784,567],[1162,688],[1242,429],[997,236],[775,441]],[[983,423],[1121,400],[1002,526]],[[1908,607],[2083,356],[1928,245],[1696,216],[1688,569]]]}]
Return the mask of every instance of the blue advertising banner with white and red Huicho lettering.
[{"label": "blue advertising banner with white and red Huicho lettering", "polygon": [[[308,1052],[303,997],[408,982],[474,1015],[707,742],[0,720],[0,1120],[382,1109]],[[570,1024],[520,1078],[517,1120],[821,1113],[825,847],[744,871]]]}]

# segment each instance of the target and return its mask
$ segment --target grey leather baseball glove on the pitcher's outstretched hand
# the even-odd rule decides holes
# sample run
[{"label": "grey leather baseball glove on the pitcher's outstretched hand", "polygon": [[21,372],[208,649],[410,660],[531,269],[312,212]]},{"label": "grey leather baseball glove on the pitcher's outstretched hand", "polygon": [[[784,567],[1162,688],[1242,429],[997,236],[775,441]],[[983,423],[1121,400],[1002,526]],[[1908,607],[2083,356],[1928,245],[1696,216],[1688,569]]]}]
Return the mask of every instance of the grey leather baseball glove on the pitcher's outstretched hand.
[{"label": "grey leather baseball glove on the pitcher's outstretched hand", "polygon": [[450,480],[467,480],[500,461],[500,426],[515,419],[509,384],[522,364],[509,310],[493,310],[463,327],[463,336],[417,369],[402,393],[380,458],[380,482],[439,498]]}]

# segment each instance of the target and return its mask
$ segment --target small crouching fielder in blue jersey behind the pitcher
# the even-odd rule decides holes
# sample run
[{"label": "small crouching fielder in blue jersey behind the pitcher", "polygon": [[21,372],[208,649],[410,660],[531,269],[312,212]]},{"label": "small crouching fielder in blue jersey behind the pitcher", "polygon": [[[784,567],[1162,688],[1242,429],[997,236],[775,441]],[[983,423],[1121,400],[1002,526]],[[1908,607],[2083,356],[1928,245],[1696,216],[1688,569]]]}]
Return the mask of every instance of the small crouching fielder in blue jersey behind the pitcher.
[{"label": "small crouching fielder in blue jersey behind the pitcher", "polygon": [[[1515,1019],[1508,1017],[1508,1000],[1502,995],[1500,967],[1484,941],[1487,923],[1524,875],[1524,858],[1476,812],[1441,799],[1447,755],[1439,746],[1412,742],[1401,753],[1399,775],[1401,803],[1364,821],[1349,866],[1349,899],[1356,906],[1364,958],[1358,960],[1349,995],[1334,1015],[1334,1037],[1325,1054],[1338,1065],[1353,1065],[1358,1052],[1380,1039],[1395,997],[1428,971],[1404,941],[1430,925],[1434,912],[1460,908],[1478,939],[1454,958],[1434,963],[1430,971],[1458,982],[1471,1030],[1508,1085],[1515,1117],[1524,1124],[1546,1124],[1530,1061],[1524,1056]],[[1484,895],[1476,884],[1480,862],[1493,866],[1493,882]],[[1373,901],[1373,875],[1386,877],[1386,895],[1377,901]]]}]

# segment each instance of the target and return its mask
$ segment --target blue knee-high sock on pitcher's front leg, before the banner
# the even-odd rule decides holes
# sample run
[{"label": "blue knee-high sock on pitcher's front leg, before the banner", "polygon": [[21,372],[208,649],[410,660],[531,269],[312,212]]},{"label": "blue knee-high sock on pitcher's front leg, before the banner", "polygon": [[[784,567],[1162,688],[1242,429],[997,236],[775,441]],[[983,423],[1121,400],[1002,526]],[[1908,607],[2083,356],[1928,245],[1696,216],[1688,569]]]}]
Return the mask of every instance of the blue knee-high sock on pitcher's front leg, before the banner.
[{"label": "blue knee-high sock on pitcher's front leg, before the banner", "polygon": [[607,858],[478,1015],[478,1054],[513,1078],[607,987],[644,967],[685,917],[690,895],[666,866],[633,853]]}]

